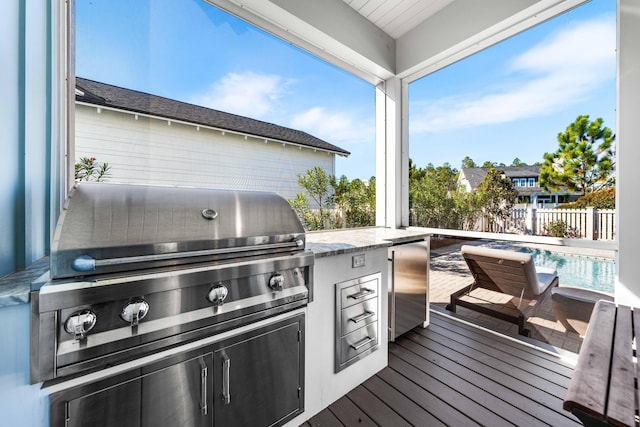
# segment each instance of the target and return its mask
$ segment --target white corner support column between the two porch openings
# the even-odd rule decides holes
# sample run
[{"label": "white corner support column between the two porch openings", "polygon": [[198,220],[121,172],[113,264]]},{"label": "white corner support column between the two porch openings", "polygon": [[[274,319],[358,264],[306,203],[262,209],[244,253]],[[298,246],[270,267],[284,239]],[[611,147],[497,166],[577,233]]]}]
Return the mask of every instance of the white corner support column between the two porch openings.
[{"label": "white corner support column between the two porch openings", "polygon": [[409,225],[407,85],[398,78],[376,87],[376,225]]}]

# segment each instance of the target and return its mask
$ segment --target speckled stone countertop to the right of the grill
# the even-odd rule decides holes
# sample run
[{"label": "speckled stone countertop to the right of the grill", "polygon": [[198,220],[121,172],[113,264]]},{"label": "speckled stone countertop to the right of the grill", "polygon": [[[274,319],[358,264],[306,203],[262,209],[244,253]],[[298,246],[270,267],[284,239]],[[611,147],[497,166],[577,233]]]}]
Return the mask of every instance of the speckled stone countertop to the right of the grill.
[{"label": "speckled stone countertop to the right of the grill", "polygon": [[316,257],[323,257],[423,240],[430,235],[424,231],[382,227],[312,231],[307,233],[306,247]]}]

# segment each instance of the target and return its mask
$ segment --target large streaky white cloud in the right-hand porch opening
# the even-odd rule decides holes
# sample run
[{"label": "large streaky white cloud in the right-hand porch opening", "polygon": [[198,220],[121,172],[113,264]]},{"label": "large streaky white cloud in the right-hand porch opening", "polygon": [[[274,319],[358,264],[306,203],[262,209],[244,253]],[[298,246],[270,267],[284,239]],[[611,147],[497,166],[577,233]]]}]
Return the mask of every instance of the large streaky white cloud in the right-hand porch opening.
[{"label": "large streaky white cloud in the right-hand porch opening", "polygon": [[562,30],[507,66],[501,88],[416,105],[413,132],[506,123],[546,115],[584,101],[615,70],[615,20]]}]

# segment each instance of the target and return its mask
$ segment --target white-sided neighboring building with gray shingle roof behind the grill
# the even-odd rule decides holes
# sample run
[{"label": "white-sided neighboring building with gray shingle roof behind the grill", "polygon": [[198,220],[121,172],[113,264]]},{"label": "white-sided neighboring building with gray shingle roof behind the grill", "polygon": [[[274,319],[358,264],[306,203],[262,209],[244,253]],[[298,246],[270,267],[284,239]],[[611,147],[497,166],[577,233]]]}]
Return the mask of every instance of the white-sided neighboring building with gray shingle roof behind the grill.
[{"label": "white-sided neighboring building with gray shingle roof behind the grill", "polygon": [[350,153],[308,133],[76,78],[75,152],[108,162],[108,180],[273,191],[294,199],[298,175],[335,175]]}]

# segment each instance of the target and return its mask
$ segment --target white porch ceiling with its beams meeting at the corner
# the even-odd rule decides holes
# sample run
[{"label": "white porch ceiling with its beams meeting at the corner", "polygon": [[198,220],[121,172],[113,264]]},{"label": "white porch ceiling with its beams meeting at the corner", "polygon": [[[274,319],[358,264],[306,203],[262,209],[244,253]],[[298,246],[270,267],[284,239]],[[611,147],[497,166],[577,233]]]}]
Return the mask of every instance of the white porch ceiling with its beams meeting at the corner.
[{"label": "white porch ceiling with its beams meeting at the corner", "polygon": [[412,81],[586,0],[206,0],[371,83]]}]

